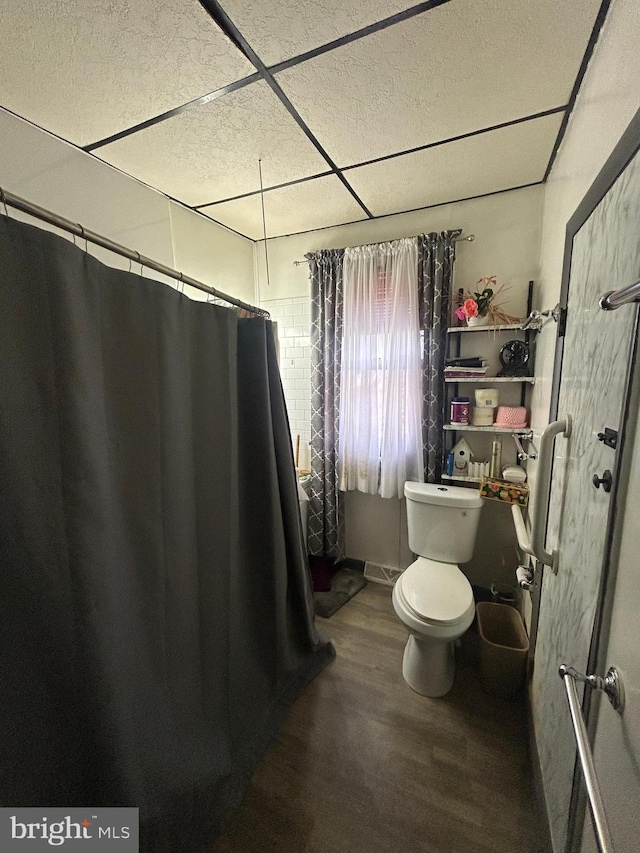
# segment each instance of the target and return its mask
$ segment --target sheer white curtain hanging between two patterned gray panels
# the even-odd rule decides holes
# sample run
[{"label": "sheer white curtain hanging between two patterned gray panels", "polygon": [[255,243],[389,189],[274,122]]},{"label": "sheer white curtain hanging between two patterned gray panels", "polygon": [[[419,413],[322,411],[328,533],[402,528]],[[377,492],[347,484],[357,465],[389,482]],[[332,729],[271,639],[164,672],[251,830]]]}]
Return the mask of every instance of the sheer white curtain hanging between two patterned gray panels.
[{"label": "sheer white curtain hanging between two patterned gray panels", "polygon": [[418,241],[346,249],[340,489],[402,496],[424,480]]}]

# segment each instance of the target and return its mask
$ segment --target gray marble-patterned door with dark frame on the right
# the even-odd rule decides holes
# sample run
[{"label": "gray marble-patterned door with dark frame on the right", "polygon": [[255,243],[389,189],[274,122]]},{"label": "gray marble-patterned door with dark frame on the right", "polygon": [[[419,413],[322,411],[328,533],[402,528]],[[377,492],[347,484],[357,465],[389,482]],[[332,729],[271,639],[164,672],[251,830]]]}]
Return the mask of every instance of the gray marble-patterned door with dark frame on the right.
[{"label": "gray marble-patterned door with dark frame on the right", "polygon": [[611,500],[593,476],[615,470],[615,451],[598,433],[620,427],[634,336],[635,311],[605,312],[598,300],[638,279],[638,223],[636,155],[576,233],[571,257],[558,416],[571,414],[573,431],[556,439],[547,547],[560,560],[544,576],[531,694],[555,853],[567,843],[576,756],[558,665],[588,665]]}]

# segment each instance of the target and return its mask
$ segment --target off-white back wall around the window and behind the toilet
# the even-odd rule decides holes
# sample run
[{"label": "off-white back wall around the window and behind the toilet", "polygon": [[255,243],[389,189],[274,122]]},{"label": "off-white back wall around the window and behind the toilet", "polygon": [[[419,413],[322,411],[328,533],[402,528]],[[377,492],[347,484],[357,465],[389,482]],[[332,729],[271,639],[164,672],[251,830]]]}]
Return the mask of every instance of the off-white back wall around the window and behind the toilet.
[{"label": "off-white back wall around the window and behind the toilet", "polygon": [[[527,284],[530,279],[536,280],[538,277],[542,198],[543,187],[528,187],[428,210],[269,240],[270,284],[266,279],[264,243],[257,243],[260,304],[272,312],[282,312],[293,311],[293,308],[286,308],[290,300],[295,300],[298,305],[301,299],[309,301],[308,266],[306,263],[294,266],[293,263],[295,260],[304,260],[307,252],[462,228],[466,234],[475,234],[476,240],[459,244],[455,287],[470,289],[481,276],[495,274],[499,283],[504,282],[512,287],[508,294],[510,302],[506,306],[507,310],[523,315]],[[300,341],[300,346],[303,345],[304,342]],[[291,358],[284,359],[281,354],[281,365],[285,369],[294,370],[297,376],[299,370],[308,366],[307,355],[300,352],[299,358],[302,359],[300,363],[293,353]],[[285,384],[288,381],[285,377]],[[294,436],[296,432],[303,436],[308,432],[303,422],[304,407],[308,411],[309,405],[308,384],[306,387],[306,399],[297,394],[302,389],[294,389]],[[346,550],[349,557],[391,566],[409,565],[413,558],[407,545],[404,500],[386,500],[349,492],[346,495],[345,512]],[[502,550],[514,544],[508,508],[487,504],[483,510],[483,530],[485,532],[479,537],[473,561],[464,567],[468,577],[472,583],[484,586],[489,586],[494,580],[513,583],[513,577],[505,572],[502,565]]]}]

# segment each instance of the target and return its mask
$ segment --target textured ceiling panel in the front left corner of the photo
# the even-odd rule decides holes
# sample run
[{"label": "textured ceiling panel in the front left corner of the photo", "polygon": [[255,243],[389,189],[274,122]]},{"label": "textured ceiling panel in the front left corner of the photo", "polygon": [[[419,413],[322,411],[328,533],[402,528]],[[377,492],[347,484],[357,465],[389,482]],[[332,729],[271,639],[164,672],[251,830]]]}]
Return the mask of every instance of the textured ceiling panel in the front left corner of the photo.
[{"label": "textured ceiling panel in the front left corner of the photo", "polygon": [[0,4],[0,104],[79,145],[253,74],[197,0]]}]

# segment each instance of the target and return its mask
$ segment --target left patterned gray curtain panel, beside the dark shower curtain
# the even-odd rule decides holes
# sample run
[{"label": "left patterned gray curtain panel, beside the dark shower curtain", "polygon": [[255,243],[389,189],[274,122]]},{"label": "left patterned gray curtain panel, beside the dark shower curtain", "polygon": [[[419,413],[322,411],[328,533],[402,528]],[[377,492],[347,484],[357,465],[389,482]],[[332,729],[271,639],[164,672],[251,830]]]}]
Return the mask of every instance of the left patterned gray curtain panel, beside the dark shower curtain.
[{"label": "left patterned gray curtain panel, beside the dark shower curtain", "polygon": [[344,517],[337,475],[343,257],[343,249],[324,249],[306,255],[311,279],[308,549],[316,557],[332,557],[334,560],[344,556]]}]

